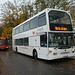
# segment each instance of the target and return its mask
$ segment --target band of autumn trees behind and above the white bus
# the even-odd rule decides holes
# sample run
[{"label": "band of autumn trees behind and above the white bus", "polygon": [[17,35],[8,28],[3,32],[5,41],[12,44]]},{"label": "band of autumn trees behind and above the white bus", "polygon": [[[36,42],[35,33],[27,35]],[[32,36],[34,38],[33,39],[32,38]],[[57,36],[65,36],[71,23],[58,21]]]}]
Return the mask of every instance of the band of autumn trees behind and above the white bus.
[{"label": "band of autumn trees behind and above the white bus", "polygon": [[75,24],[75,5],[71,6],[71,1],[72,0],[35,0],[34,2],[31,2],[31,0],[29,0],[26,2],[26,0],[22,0],[20,3],[17,3],[16,0],[14,0],[14,3],[8,1],[1,5],[3,30],[0,35],[11,39],[13,27],[19,25],[45,8],[57,8],[69,11]]}]

